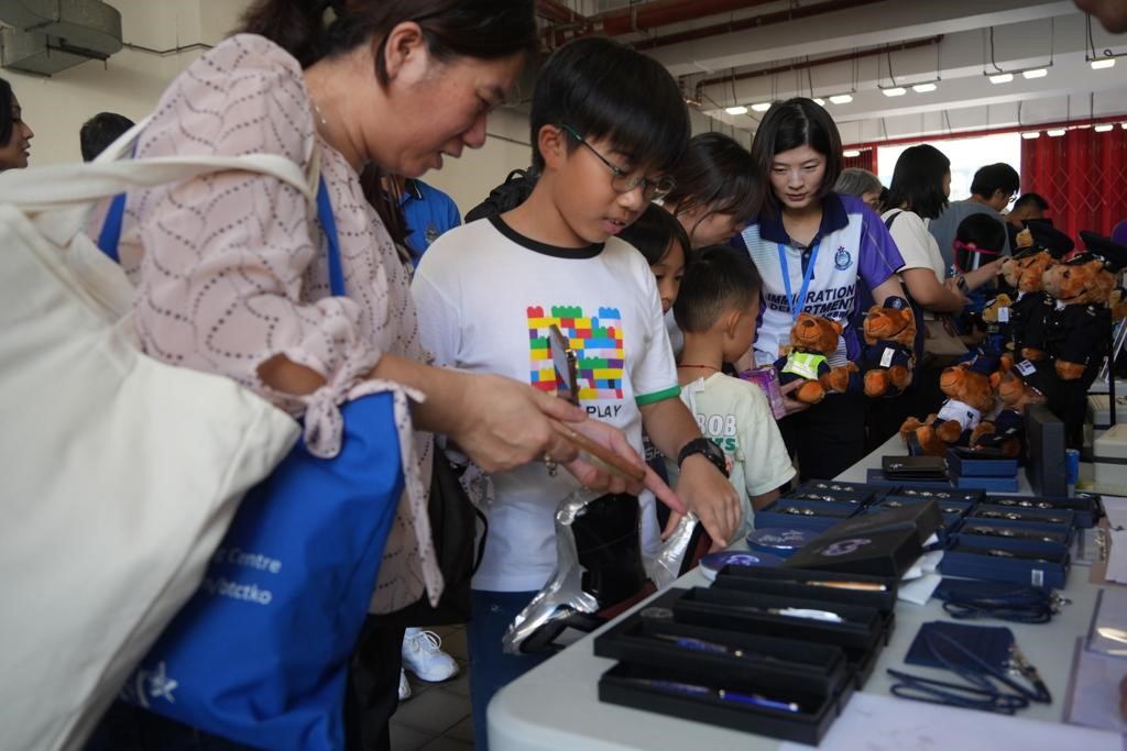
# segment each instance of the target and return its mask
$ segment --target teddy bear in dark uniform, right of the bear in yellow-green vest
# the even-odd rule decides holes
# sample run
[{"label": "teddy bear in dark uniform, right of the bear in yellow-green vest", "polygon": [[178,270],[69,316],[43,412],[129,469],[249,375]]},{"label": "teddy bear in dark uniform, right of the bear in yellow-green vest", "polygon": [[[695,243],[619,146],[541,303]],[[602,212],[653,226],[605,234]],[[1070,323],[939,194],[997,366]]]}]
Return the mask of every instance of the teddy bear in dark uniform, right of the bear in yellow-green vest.
[{"label": "teddy bear in dark uniform, right of the bear in yellow-green vest", "polygon": [[915,366],[915,314],[903,297],[873,305],[861,327],[861,355],[866,396],[899,396],[912,383]]}]

